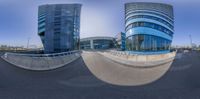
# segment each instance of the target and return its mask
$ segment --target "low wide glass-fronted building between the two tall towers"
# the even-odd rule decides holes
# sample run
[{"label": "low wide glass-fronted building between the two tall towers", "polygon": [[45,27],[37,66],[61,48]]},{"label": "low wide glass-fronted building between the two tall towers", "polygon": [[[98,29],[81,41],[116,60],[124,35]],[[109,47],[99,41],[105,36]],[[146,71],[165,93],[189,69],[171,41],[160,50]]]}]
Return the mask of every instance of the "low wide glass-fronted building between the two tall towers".
[{"label": "low wide glass-fronted building between the two tall towers", "polygon": [[113,37],[88,37],[80,40],[80,48],[87,49],[110,49],[115,46]]}]

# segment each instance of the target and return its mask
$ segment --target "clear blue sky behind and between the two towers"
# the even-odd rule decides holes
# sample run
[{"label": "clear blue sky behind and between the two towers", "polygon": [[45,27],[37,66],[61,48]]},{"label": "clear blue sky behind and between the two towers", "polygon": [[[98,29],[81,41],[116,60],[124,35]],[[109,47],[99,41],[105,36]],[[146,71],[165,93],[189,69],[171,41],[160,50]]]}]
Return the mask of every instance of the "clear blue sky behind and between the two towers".
[{"label": "clear blue sky behind and between the two towers", "polygon": [[37,11],[42,4],[81,3],[80,36],[115,36],[124,31],[124,3],[161,2],[174,6],[173,45],[200,45],[200,1],[197,0],[0,0],[0,45],[42,45],[37,35]]}]

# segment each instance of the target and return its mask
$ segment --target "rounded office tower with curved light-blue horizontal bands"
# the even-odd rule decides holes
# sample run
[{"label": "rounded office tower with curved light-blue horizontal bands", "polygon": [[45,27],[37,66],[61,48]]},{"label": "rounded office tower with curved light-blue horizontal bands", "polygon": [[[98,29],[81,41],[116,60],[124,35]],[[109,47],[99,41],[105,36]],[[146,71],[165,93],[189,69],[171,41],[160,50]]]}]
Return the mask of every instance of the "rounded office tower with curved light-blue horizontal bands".
[{"label": "rounded office tower with curved light-blue horizontal bands", "polygon": [[169,51],[174,34],[173,7],[162,3],[125,4],[126,50]]}]

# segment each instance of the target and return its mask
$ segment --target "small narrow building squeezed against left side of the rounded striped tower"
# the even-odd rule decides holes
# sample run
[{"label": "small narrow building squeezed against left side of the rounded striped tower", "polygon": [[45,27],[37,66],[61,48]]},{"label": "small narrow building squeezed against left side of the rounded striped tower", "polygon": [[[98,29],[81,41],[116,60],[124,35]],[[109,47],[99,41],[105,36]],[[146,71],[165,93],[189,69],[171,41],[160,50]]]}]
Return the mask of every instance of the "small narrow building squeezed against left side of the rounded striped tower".
[{"label": "small narrow building squeezed against left side of the rounded striped tower", "polygon": [[116,35],[116,47],[118,50],[125,50],[126,47],[126,34],[120,32]]}]

